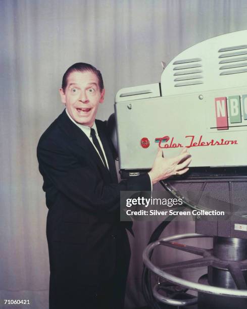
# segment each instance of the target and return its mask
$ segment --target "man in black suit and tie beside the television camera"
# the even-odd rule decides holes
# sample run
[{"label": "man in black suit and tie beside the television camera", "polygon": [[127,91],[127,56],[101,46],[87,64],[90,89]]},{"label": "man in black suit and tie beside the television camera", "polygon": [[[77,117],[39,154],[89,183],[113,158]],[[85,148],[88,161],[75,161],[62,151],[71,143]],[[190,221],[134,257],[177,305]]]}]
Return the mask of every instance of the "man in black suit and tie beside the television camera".
[{"label": "man in black suit and tie beside the television camera", "polygon": [[121,309],[130,248],[119,221],[120,191],[149,191],[152,183],[185,173],[189,155],[183,149],[166,160],[160,150],[149,174],[118,183],[106,123],[95,120],[105,95],[101,72],[74,64],[60,94],[66,109],[37,147],[49,209],[50,309]]}]

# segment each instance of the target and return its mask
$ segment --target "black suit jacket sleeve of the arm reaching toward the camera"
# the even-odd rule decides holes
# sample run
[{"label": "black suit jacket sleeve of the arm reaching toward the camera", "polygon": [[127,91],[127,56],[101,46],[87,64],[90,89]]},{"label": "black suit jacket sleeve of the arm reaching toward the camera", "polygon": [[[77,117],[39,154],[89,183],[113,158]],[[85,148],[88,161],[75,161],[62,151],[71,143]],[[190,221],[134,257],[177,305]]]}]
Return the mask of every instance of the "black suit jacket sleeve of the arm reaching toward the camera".
[{"label": "black suit jacket sleeve of the arm reaching toward the camera", "polygon": [[56,140],[46,139],[37,148],[39,170],[44,180],[55,186],[73,203],[90,212],[113,212],[120,207],[120,191],[149,191],[147,173],[106,184],[93,162],[78,158]]}]

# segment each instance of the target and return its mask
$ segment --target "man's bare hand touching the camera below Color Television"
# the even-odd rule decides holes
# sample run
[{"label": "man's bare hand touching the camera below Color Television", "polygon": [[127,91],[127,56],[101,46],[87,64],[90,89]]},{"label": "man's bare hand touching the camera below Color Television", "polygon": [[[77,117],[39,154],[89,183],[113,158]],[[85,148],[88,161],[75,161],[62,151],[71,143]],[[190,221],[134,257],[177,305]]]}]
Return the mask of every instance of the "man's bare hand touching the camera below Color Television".
[{"label": "man's bare hand touching the camera below Color Television", "polygon": [[154,165],[149,172],[152,183],[155,184],[172,175],[182,175],[186,173],[190,162],[191,155],[185,147],[182,149],[180,155],[170,159],[163,158],[162,149],[159,147]]}]

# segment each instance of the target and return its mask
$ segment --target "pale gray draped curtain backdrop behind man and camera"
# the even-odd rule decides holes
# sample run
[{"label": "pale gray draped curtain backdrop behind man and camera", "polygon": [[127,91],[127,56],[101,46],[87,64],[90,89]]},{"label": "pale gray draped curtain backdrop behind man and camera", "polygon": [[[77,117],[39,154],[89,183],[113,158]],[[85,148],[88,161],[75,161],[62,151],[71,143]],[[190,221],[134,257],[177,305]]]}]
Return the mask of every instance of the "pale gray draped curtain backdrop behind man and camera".
[{"label": "pale gray draped curtain backdrop behind man and camera", "polygon": [[[6,308],[4,299],[29,299],[31,305],[18,308],[47,309],[47,210],[36,145],[63,110],[58,92],[63,73],[75,62],[102,71],[106,99],[98,118],[106,119],[120,88],[160,81],[162,60],[168,63],[202,40],[246,29],[247,2],[1,0],[0,11],[0,308]],[[141,253],[156,226],[136,223],[135,238],[130,237],[126,308],[144,304]],[[174,222],[165,234],[193,231],[193,222]],[[166,251],[157,259],[165,264],[178,254],[181,258]]]}]

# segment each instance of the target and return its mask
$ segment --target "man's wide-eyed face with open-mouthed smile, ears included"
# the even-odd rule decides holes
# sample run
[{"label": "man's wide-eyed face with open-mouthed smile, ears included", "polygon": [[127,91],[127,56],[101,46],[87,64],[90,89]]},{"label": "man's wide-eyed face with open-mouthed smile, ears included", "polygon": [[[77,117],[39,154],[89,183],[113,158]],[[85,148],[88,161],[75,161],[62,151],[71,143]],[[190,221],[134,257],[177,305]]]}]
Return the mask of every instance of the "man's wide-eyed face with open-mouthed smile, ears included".
[{"label": "man's wide-eyed face with open-mouthed smile, ears included", "polygon": [[65,91],[60,88],[62,102],[71,118],[82,125],[91,127],[98,105],[103,103],[105,89],[101,91],[97,76],[91,71],[74,71],[67,78]]}]

